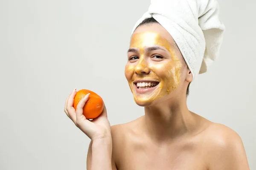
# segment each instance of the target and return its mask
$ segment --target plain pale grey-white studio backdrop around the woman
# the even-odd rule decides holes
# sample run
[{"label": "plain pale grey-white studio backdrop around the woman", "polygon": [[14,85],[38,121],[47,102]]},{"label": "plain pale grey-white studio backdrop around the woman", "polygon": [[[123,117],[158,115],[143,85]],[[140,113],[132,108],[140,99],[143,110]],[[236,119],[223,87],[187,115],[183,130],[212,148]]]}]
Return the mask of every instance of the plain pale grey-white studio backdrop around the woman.
[{"label": "plain pale grey-white studio backdrop around the woman", "polygon": [[[111,125],[142,116],[124,76],[149,0],[0,1],[0,169],[86,169],[90,140],[64,113],[74,88],[105,101]],[[256,170],[256,2],[220,0],[218,60],[192,83],[189,109],[241,136]]]}]

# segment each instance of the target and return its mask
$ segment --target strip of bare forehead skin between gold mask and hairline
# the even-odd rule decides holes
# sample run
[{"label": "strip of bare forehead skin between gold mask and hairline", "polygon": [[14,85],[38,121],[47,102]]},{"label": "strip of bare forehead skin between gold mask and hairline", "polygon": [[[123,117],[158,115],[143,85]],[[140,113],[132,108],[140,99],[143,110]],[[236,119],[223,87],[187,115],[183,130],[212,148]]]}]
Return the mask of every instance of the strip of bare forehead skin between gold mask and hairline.
[{"label": "strip of bare forehead skin between gold mask and hairline", "polygon": [[163,28],[163,26],[161,26],[158,23],[152,23],[150,25],[139,26],[138,28],[136,28],[136,30],[132,34],[131,39],[133,39],[134,37],[137,37],[137,35],[139,35],[138,33],[142,34],[144,32],[154,32],[154,33],[158,34],[160,40],[164,40],[164,41],[168,42],[169,45],[175,46],[175,44],[176,44],[175,41],[173,40],[172,36],[169,34],[169,32],[166,31],[166,29]]}]

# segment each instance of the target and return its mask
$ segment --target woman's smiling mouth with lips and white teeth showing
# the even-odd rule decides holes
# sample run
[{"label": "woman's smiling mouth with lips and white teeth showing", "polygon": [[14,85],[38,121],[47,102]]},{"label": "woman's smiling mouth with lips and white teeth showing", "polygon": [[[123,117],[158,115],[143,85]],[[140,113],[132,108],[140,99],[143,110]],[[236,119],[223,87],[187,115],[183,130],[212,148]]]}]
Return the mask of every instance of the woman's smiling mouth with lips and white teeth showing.
[{"label": "woman's smiling mouth with lips and white teeth showing", "polygon": [[149,91],[153,91],[159,82],[151,81],[151,80],[137,80],[134,81],[134,89],[137,93],[147,93]]}]

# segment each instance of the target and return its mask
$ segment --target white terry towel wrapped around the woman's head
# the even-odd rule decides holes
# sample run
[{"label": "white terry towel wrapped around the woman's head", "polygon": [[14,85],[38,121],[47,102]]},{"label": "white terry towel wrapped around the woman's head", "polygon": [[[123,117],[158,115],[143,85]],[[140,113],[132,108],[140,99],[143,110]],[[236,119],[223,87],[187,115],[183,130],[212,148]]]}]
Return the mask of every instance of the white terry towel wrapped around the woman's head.
[{"label": "white terry towel wrapped around the woman's head", "polygon": [[194,79],[219,54],[225,27],[218,14],[217,0],[151,0],[132,32],[146,18],[157,20],[177,43]]}]

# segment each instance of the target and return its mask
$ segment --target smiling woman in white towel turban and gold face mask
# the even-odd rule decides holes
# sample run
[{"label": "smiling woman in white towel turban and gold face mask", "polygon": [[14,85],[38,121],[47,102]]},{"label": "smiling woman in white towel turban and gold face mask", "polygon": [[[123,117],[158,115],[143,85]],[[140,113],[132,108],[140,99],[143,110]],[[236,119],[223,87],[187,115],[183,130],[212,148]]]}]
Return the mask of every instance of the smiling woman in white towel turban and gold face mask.
[{"label": "smiling woman in white towel turban and gold face mask", "polygon": [[111,127],[105,107],[89,121],[82,114],[88,96],[76,111],[76,89],[67,98],[67,116],[91,139],[88,170],[249,170],[239,135],[186,105],[189,83],[218,55],[223,30],[214,0],[151,1],[125,67],[145,115]]}]

